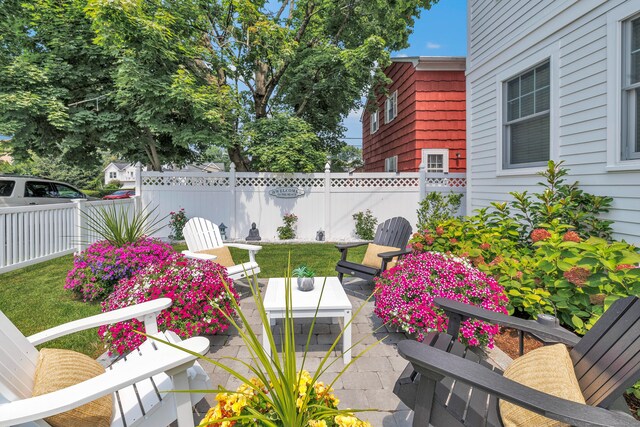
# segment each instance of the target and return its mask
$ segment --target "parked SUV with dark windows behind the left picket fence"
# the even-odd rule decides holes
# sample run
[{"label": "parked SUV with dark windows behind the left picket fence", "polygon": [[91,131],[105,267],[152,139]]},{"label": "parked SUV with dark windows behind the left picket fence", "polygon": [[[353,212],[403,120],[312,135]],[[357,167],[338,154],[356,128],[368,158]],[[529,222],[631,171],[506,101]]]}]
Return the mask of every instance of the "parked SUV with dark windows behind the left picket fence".
[{"label": "parked SUV with dark windows behind the left picket fence", "polygon": [[0,174],[0,207],[49,205],[72,199],[95,200],[65,182]]}]

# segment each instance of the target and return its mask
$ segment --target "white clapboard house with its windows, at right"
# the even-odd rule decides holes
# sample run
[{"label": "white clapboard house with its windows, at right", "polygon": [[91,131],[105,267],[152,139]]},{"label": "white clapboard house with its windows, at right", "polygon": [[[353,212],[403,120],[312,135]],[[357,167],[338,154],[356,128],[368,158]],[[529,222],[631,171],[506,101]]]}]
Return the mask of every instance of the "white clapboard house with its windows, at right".
[{"label": "white clapboard house with its windows, at right", "polygon": [[468,2],[467,212],[535,190],[549,159],[614,198],[640,243],[640,1]]}]

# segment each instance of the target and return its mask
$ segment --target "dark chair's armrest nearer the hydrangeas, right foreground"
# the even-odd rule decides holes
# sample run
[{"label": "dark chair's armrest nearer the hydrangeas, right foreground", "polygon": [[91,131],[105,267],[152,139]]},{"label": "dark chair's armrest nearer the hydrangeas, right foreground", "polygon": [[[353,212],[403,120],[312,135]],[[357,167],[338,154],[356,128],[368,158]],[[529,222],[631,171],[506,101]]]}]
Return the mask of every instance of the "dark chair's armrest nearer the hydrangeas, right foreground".
[{"label": "dark chair's armrest nearer the hydrangeas, right foreground", "polygon": [[[506,314],[496,313],[495,311],[485,310],[471,304],[465,304],[459,301],[453,301],[447,298],[434,298],[433,302],[442,308],[449,317],[449,327],[447,333],[451,336],[457,336],[459,322],[468,318],[483,320],[495,325],[506,326],[523,332],[535,335],[544,343],[562,343],[570,347],[574,347],[580,337],[574,333],[560,327],[550,327],[536,322],[535,320],[519,319]],[[457,317],[457,319],[455,318]]]}]

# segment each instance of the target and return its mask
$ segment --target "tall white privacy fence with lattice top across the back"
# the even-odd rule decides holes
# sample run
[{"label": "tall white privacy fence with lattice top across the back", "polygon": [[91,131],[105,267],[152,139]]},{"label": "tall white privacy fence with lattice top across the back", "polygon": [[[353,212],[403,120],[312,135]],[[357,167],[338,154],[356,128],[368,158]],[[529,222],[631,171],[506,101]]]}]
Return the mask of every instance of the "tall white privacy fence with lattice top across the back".
[{"label": "tall white privacy fence with lattice top across the back", "polygon": [[[353,214],[370,209],[382,222],[402,216],[416,223],[418,202],[427,192],[464,193],[465,174],[325,173],[279,174],[230,172],[140,172],[136,194],[142,205],[157,207],[160,216],[184,208],[188,217],[224,223],[230,239],[244,239],[256,223],[265,241],[277,240],[282,216],[298,217],[297,238],[349,240]],[[462,203],[461,214],[464,214]],[[167,221],[168,223],[168,221]],[[168,227],[157,235],[166,238]]]}]

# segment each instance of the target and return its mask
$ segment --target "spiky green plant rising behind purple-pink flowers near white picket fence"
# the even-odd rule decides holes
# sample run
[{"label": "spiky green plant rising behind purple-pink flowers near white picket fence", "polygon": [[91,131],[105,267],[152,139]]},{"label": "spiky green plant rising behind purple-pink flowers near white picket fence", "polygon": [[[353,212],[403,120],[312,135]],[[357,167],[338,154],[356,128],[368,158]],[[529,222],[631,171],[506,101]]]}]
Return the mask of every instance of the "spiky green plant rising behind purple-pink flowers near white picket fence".
[{"label": "spiky green plant rising behind purple-pink flowers near white picket fence", "polygon": [[162,228],[160,223],[164,222],[166,217],[158,218],[157,214],[153,216],[156,209],[157,207],[151,210],[135,210],[131,205],[118,207],[115,203],[99,206],[93,210],[82,211],[86,220],[84,229],[117,247],[132,244]]}]

